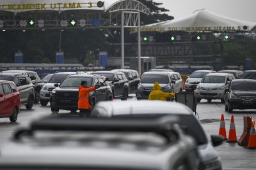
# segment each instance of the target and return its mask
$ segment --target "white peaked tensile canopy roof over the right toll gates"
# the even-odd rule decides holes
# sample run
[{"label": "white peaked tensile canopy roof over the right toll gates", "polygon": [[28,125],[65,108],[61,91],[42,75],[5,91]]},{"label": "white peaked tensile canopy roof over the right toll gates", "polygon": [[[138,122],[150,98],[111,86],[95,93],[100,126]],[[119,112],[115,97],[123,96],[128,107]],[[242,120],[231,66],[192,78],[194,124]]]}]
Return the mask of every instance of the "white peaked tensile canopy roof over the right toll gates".
[{"label": "white peaked tensile canopy roof over the right toll gates", "polygon": [[141,31],[246,31],[255,32],[256,23],[234,18],[223,17],[205,9],[196,10],[192,15],[149,24],[141,27]]}]

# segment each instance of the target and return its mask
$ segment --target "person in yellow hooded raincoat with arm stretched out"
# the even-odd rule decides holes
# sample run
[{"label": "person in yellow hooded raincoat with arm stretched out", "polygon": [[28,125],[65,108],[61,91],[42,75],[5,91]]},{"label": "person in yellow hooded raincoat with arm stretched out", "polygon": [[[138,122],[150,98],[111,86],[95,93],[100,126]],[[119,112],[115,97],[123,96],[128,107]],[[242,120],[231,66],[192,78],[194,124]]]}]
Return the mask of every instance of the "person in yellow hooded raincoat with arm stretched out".
[{"label": "person in yellow hooded raincoat with arm stretched out", "polygon": [[160,100],[160,101],[166,101],[167,97],[174,97],[175,93],[166,93],[160,90],[161,86],[158,82],[154,83],[154,87],[152,92],[150,92],[148,96],[148,100]]}]

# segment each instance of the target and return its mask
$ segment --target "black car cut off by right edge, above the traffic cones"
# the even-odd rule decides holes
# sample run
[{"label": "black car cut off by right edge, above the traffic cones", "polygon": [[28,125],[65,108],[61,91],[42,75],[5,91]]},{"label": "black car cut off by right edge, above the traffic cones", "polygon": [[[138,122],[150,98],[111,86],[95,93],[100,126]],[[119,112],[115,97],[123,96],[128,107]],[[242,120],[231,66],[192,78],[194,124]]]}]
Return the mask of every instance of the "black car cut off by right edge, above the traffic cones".
[{"label": "black car cut off by right edge, above the traffic cones", "polygon": [[256,109],[256,80],[232,80],[225,94],[225,111]]}]

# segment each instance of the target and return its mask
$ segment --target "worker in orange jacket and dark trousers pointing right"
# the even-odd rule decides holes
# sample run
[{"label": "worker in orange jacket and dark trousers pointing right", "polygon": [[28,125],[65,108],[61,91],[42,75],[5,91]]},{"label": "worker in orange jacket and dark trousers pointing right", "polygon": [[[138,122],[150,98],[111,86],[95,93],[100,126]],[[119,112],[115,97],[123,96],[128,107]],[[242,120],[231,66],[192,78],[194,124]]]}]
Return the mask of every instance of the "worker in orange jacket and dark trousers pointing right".
[{"label": "worker in orange jacket and dark trousers pointing right", "polygon": [[100,85],[94,85],[93,87],[87,87],[87,81],[82,81],[79,87],[78,96],[78,109],[80,110],[79,117],[90,117],[91,106],[89,103],[89,93],[98,89]]}]

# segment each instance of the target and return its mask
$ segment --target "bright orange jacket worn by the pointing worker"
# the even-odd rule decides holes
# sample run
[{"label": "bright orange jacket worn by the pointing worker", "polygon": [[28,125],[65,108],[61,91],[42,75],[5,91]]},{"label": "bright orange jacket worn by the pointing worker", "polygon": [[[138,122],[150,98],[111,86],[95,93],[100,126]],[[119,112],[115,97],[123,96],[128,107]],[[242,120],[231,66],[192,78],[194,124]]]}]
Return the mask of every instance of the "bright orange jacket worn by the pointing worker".
[{"label": "bright orange jacket worn by the pointing worker", "polygon": [[78,96],[78,109],[90,109],[90,103],[89,103],[89,93],[96,90],[96,87],[79,87],[79,96]]}]

